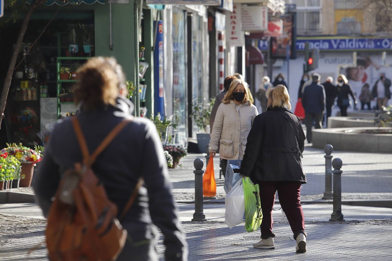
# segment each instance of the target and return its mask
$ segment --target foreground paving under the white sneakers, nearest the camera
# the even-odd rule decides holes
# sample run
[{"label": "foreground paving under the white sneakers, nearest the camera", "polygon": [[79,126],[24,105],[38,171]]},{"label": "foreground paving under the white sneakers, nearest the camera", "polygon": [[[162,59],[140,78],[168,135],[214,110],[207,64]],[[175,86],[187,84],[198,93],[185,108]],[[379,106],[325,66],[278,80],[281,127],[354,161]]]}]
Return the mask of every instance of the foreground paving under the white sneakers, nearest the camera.
[{"label": "foreground paving under the white sneakers, nearest the camera", "polygon": [[[392,219],[345,223],[306,222],[307,252],[297,254],[286,222],[276,222],[274,250],[252,247],[260,232],[247,233],[243,225],[229,229],[223,222],[182,223],[189,260],[390,260]],[[48,260],[45,221],[0,215],[0,260]],[[29,249],[36,247],[36,250]],[[157,246],[163,260],[163,238]],[[131,259],[130,259],[131,260]]]}]

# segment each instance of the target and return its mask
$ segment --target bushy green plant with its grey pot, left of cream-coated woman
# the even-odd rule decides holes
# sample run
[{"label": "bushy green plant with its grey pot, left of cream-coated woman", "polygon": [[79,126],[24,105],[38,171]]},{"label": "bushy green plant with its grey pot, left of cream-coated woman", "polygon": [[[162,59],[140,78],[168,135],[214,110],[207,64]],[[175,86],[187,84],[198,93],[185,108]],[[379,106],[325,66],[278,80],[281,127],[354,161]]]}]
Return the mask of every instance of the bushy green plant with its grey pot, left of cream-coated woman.
[{"label": "bushy green plant with its grey pot, left of cream-coated woman", "polygon": [[201,132],[196,133],[200,153],[204,153],[205,147],[210,143],[210,133],[208,133],[207,127],[210,123],[211,111],[214,103],[215,99],[210,99],[209,101],[207,101],[207,99],[198,99],[193,102],[193,120],[201,130]]}]

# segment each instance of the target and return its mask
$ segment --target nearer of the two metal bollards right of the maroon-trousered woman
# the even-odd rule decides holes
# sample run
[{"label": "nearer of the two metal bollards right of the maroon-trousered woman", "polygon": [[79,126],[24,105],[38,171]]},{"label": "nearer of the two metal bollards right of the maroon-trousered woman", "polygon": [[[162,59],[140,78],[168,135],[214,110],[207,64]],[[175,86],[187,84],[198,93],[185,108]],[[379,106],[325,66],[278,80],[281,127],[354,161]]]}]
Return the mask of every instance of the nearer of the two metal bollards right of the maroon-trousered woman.
[{"label": "nearer of the two metal bollards right of the maroon-trousered woman", "polygon": [[342,214],[342,183],[341,174],[343,171],[340,170],[342,167],[342,160],[340,158],[335,158],[332,160],[332,166],[334,170],[334,211],[331,214],[331,219],[329,221],[344,221]]}]

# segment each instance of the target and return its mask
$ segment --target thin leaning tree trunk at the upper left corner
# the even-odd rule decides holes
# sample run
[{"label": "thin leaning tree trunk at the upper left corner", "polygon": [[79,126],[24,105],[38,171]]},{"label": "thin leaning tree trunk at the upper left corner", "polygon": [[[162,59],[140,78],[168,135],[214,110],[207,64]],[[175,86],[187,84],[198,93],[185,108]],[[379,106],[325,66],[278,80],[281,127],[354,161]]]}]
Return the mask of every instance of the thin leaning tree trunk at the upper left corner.
[{"label": "thin leaning tree trunk at the upper left corner", "polygon": [[[30,22],[30,18],[31,18],[31,14],[33,14],[35,8],[38,5],[41,5],[44,1],[42,0],[35,0],[33,2],[33,4],[30,5],[29,11],[27,12],[23,23],[22,23],[22,27],[20,28],[20,32],[18,35],[18,40],[16,40],[16,44],[11,56],[11,61],[9,61],[9,66],[8,66],[8,71],[7,74],[5,76],[5,80],[4,80],[4,86],[3,86],[3,90],[1,93],[1,97],[0,97],[0,112],[4,113],[5,110],[5,104],[7,103],[7,96],[8,96],[8,91],[9,91],[9,86],[11,85],[11,80],[12,80],[12,75],[14,72],[14,68],[15,68],[15,64],[16,64],[16,59],[18,58],[18,54],[19,54],[19,50],[20,47],[22,46],[22,41],[25,35],[25,32],[27,30],[27,25]],[[3,114],[1,114],[3,115]],[[1,128],[1,122],[2,122],[3,117],[0,117],[0,128]]]}]

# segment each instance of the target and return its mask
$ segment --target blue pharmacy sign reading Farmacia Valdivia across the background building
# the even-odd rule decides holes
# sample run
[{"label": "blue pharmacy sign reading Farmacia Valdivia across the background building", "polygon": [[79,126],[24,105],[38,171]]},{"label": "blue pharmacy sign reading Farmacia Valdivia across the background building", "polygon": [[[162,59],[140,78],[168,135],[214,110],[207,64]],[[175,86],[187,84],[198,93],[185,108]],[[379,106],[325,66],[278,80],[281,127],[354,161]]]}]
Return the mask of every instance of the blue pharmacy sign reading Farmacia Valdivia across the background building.
[{"label": "blue pharmacy sign reading Farmacia Valdivia across the background building", "polygon": [[[297,38],[296,49],[305,50],[307,41],[309,42],[309,49],[320,49],[321,51],[392,50],[392,38]],[[258,47],[262,51],[267,51],[268,40],[260,40]]]}]

